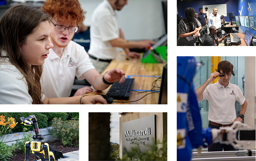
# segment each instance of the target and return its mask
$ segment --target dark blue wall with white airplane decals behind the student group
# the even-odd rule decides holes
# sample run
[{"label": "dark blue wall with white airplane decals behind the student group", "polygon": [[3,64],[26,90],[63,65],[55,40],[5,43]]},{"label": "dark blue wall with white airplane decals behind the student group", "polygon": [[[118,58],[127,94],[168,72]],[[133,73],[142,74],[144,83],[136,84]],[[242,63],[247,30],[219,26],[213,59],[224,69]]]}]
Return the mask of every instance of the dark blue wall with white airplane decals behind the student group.
[{"label": "dark blue wall with white airplane decals behind the student group", "polygon": [[[249,8],[248,3],[250,4],[251,9]],[[241,8],[243,6],[241,16],[256,17],[256,0],[197,0],[197,1],[187,1],[187,2],[177,0],[178,14],[181,16],[181,19],[182,19],[182,18],[185,18],[185,9],[187,7],[193,7],[195,11],[198,12],[198,9],[200,7],[203,8],[203,5],[210,5],[210,4],[227,4],[227,13],[234,12],[234,15],[239,15],[239,16],[240,16],[239,10],[241,11]],[[212,9],[208,9],[208,12],[209,14],[212,13]],[[224,17],[224,18],[226,19],[226,21],[230,21],[228,17]],[[235,21],[235,19],[233,21]],[[253,35],[256,35],[256,31],[253,31],[250,28],[241,27],[241,29],[244,32],[245,32],[245,29],[247,29]]]}]

